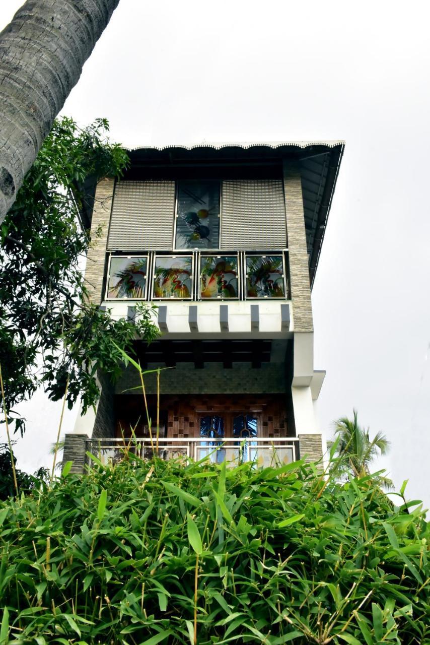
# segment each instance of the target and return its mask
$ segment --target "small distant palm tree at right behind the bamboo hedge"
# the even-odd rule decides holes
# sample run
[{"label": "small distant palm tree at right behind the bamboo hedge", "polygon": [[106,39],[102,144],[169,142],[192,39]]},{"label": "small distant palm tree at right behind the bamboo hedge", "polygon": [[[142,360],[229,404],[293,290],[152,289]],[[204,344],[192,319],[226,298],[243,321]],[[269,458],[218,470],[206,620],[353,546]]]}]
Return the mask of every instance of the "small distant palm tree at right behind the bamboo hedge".
[{"label": "small distant palm tree at right behind the bamboo hedge", "polygon": [[[353,410],[353,415],[352,420],[342,417],[335,421],[335,435],[338,437],[335,453],[340,457],[339,469],[344,475],[364,477],[369,475],[369,465],[378,454],[387,454],[389,441],[382,432],[377,432],[371,440],[369,429],[358,425],[357,410]],[[387,477],[379,476],[378,483],[382,488],[393,488],[393,482]]]}]

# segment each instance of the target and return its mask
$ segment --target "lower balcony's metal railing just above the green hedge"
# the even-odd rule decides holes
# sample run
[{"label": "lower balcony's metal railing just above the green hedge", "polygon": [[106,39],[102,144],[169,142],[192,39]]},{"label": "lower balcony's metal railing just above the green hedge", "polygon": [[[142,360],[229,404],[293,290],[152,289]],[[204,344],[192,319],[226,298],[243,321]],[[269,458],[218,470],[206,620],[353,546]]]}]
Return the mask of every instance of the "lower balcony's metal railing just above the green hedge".
[{"label": "lower balcony's metal railing just above the green hedge", "polygon": [[[103,464],[124,459],[126,452],[150,459],[154,453],[161,459],[194,459],[207,457],[211,462],[228,462],[231,466],[249,461],[264,468],[289,464],[298,459],[297,437],[244,437],[217,441],[207,437],[151,439],[89,439],[86,450]],[[91,459],[90,459],[91,465]]]}]

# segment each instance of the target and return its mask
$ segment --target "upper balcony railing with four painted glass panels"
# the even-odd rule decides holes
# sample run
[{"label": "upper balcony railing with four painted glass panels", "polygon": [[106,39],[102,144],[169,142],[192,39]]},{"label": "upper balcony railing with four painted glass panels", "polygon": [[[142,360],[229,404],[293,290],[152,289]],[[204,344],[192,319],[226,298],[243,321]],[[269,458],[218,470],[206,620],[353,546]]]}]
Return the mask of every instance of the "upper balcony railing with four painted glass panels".
[{"label": "upper balcony railing with four painted glass panels", "polygon": [[106,300],[288,299],[287,267],[286,250],[112,254]]}]

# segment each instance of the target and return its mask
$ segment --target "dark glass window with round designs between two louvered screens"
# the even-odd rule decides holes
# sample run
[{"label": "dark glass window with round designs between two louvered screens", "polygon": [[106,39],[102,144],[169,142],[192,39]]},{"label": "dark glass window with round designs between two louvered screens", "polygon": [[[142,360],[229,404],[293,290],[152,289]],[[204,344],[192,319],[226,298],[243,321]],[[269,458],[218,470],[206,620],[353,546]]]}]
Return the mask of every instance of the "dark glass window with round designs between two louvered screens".
[{"label": "dark glass window with round designs between two louvered screens", "polygon": [[219,248],[219,183],[180,181],[175,248]]}]

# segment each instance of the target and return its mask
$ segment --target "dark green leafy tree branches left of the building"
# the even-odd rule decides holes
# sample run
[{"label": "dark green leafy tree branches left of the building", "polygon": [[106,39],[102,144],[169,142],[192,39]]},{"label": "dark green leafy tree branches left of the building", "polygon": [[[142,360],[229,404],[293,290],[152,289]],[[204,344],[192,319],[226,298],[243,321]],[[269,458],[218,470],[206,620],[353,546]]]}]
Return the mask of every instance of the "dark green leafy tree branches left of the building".
[{"label": "dark green leafy tree branches left of the building", "polygon": [[[131,352],[136,333],[148,341],[157,333],[147,310],[136,328],[86,297],[82,265],[91,241],[81,214],[88,191],[128,163],[107,130],[105,119],[83,130],[72,119],[55,121],[0,226],[0,363],[11,420],[15,404],[41,383],[50,398],[61,399],[67,379],[69,407],[81,397],[86,410],[99,395],[97,370],[119,373],[110,339]],[[23,432],[23,419],[15,421]]]}]

